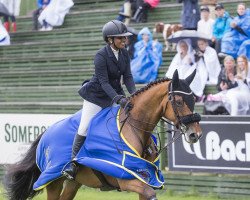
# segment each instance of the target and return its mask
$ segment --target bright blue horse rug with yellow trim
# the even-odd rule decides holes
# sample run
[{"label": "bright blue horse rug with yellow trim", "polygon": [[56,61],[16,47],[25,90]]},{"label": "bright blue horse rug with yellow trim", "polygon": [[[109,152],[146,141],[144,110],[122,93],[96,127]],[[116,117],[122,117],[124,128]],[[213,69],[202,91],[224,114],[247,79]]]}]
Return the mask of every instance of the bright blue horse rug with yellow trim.
[{"label": "bright blue horse rug with yellow trim", "polygon": [[[115,178],[136,178],[153,188],[162,188],[164,178],[159,170],[159,157],[154,162],[140,157],[119,132],[119,112],[119,107],[109,107],[94,117],[76,161]],[[43,189],[62,176],[62,169],[71,159],[80,119],[81,110],[49,127],[41,137],[36,152],[41,175],[33,185],[34,190]]]}]

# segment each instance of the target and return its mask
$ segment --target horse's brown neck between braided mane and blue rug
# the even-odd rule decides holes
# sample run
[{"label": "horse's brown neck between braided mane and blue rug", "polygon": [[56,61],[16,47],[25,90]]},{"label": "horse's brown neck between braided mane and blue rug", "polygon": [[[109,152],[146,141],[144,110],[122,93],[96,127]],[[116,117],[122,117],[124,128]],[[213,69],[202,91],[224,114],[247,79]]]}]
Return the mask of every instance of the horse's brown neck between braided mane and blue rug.
[{"label": "horse's brown neck between braided mane and blue rug", "polygon": [[163,111],[163,98],[167,93],[165,82],[152,86],[132,98],[134,105],[126,125],[126,135],[132,146],[143,155],[151,133]]}]

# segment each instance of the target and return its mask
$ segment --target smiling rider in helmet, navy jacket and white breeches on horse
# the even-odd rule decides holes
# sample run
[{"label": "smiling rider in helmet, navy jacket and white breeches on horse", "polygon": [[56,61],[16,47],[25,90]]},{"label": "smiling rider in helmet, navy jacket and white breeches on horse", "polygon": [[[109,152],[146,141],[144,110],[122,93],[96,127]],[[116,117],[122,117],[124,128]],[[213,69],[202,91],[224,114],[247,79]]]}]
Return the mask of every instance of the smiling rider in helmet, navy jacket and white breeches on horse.
[{"label": "smiling rider in helmet, navy jacket and white breeches on horse", "polygon": [[[106,23],[102,29],[103,39],[107,43],[95,55],[95,73],[90,81],[84,82],[79,90],[84,99],[81,122],[75,135],[72,146],[72,160],[83,145],[87,128],[91,119],[101,109],[111,106],[111,103],[120,104],[125,110],[132,109],[132,104],[125,97],[121,86],[121,76],[130,94],[135,92],[135,83],[130,71],[130,58],[125,48],[128,32],[124,23],[112,20]],[[71,168],[63,174],[70,180],[74,180],[77,173],[77,164],[72,162]]]}]

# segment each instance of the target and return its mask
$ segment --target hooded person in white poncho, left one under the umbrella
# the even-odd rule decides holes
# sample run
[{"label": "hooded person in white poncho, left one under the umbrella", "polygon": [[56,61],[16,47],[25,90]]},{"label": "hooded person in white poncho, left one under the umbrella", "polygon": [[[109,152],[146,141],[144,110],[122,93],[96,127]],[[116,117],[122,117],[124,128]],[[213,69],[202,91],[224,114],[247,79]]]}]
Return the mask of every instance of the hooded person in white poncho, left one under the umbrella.
[{"label": "hooded person in white poncho, left one under the umbrella", "polygon": [[190,39],[180,40],[177,43],[177,54],[168,68],[166,77],[172,78],[176,69],[178,70],[180,79],[185,79],[196,69],[196,75],[190,88],[196,96],[196,101],[201,101],[208,75],[204,64],[195,63],[194,51]]}]

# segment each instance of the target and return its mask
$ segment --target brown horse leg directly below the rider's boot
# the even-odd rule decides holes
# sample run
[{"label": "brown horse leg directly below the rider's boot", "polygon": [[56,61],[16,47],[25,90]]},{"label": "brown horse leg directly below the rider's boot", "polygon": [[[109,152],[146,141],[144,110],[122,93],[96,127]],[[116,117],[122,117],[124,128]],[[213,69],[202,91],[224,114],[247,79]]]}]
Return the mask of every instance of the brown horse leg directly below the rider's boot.
[{"label": "brown horse leg directly below the rider's boot", "polygon": [[59,200],[74,199],[74,197],[76,196],[76,193],[80,187],[81,187],[81,184],[79,184],[78,182],[67,180],[65,182],[65,186],[64,186],[63,192],[62,192]]}]

